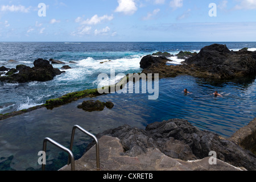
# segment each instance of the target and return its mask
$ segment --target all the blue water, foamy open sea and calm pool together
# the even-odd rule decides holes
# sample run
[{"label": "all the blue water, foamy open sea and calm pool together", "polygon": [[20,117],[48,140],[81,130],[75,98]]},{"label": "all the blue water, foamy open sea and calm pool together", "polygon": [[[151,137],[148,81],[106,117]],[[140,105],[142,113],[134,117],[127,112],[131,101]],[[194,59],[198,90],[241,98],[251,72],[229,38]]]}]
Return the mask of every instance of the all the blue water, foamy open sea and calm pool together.
[{"label": "all the blue water, foamy open sea and calm pool together", "polygon": [[[237,51],[248,47],[256,51],[256,42],[217,42]],[[0,83],[0,114],[10,113],[41,105],[46,100],[70,92],[97,88],[98,75],[138,73],[143,56],[158,51],[173,55],[180,51],[199,52],[210,42],[1,42],[0,67],[15,68],[18,64],[33,67],[36,59],[55,59],[72,69],[56,76],[52,81],[28,82],[24,84]],[[15,60],[10,62],[9,60]],[[111,60],[111,61],[109,61]],[[75,63],[70,63],[73,61]],[[101,64],[101,62],[105,63]],[[168,63],[180,64],[180,59],[171,57]],[[55,64],[53,67],[61,68]],[[121,78],[121,77],[120,77]],[[115,81],[120,79],[116,78]],[[184,95],[184,88],[193,94]],[[171,118],[187,119],[202,130],[213,131],[223,137],[246,126],[256,116],[255,77],[241,78],[229,82],[207,82],[200,78],[181,75],[159,80],[158,100],[148,100],[147,94],[107,94],[97,97],[112,101],[112,110],[104,109],[86,113],[76,108],[79,101],[53,110],[39,109],[17,117],[0,121],[0,170],[38,170],[37,152],[42,150],[44,137],[52,137],[68,146],[73,125],[81,125],[94,134],[106,129],[128,124],[144,128],[149,123]],[[212,97],[218,90],[224,97]],[[70,134],[69,134],[70,133]],[[76,142],[77,148],[85,148],[88,139]],[[76,152],[81,156],[82,149]],[[59,155],[63,155],[60,153]],[[59,158],[59,157],[58,157]],[[49,157],[48,168],[56,170],[66,159]],[[58,162],[61,160],[61,162]]]}]

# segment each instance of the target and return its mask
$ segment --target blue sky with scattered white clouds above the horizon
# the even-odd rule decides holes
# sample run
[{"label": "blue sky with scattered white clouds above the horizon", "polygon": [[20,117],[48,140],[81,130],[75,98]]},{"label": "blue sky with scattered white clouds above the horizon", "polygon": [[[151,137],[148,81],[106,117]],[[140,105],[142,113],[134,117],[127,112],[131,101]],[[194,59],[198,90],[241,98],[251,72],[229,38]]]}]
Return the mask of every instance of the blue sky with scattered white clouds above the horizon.
[{"label": "blue sky with scattered white clouds above the horizon", "polygon": [[255,42],[256,0],[0,0],[0,42]]}]

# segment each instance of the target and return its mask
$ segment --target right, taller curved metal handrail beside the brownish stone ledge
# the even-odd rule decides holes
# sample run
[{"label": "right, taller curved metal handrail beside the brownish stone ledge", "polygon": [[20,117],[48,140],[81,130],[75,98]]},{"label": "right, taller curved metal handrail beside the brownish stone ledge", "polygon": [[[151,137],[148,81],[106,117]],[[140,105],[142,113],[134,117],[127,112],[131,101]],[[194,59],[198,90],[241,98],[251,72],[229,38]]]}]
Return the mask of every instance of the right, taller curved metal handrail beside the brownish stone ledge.
[{"label": "right, taller curved metal handrail beside the brownish stone ledge", "polygon": [[[89,133],[88,131],[86,131],[85,129],[80,127],[79,125],[73,126],[69,150],[72,151],[76,129],[79,129],[80,131],[82,131],[82,133],[84,133],[84,134],[88,135],[89,137],[93,138],[94,141],[96,142],[96,164],[97,164],[97,170],[100,170],[100,147],[99,147],[98,139],[93,134]],[[70,164],[70,162],[71,161],[70,161],[70,158],[69,158],[68,159],[68,165]]]}]

